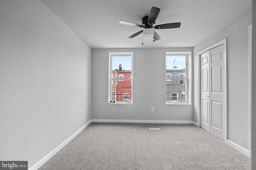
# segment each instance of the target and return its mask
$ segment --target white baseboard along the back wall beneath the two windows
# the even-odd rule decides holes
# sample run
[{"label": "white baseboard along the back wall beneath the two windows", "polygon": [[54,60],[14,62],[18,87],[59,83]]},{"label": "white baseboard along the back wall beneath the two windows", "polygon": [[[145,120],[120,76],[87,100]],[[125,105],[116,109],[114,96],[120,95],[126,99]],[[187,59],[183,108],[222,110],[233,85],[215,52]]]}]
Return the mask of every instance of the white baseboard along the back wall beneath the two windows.
[{"label": "white baseboard along the back wall beneath the two windows", "polygon": [[194,124],[193,121],[176,121],[176,120],[119,120],[119,119],[92,119],[92,122],[108,122],[108,123],[178,123],[178,124]]}]

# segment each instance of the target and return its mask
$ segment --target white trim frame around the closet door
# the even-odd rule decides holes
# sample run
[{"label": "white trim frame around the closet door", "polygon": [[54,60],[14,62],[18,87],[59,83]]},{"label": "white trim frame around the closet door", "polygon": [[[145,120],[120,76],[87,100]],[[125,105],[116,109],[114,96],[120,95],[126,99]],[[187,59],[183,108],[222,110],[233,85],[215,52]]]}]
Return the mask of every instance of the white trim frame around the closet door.
[{"label": "white trim frame around the closet door", "polygon": [[197,123],[198,123],[198,126],[199,127],[201,127],[201,60],[200,60],[200,58],[201,58],[201,55],[203,54],[203,53],[205,53],[206,51],[209,51],[210,49],[214,49],[215,47],[218,47],[218,46],[220,46],[220,45],[224,45],[224,48],[225,48],[225,53],[224,53],[224,64],[225,64],[225,76],[226,76],[226,81],[225,81],[225,87],[223,87],[223,88],[225,88],[225,96],[226,96],[226,98],[225,98],[225,100],[226,100],[226,113],[225,113],[225,119],[226,119],[226,125],[225,125],[225,127],[224,127],[224,129],[225,129],[225,137],[224,137],[224,141],[225,141],[225,143],[226,143],[226,141],[227,141],[227,136],[228,136],[228,117],[227,117],[227,115],[228,115],[228,77],[227,77],[227,74],[228,74],[228,66],[227,66],[227,38],[225,38],[225,39],[222,39],[221,41],[219,41],[219,42],[217,42],[217,43],[215,43],[214,45],[211,45],[210,47],[207,47],[206,49],[204,49],[204,50],[202,50],[202,51],[200,51],[200,52],[198,52],[197,53],[197,61],[198,61],[198,70],[197,70],[197,72],[198,72],[198,82],[197,82],[197,88],[198,88],[198,113],[197,113]]}]

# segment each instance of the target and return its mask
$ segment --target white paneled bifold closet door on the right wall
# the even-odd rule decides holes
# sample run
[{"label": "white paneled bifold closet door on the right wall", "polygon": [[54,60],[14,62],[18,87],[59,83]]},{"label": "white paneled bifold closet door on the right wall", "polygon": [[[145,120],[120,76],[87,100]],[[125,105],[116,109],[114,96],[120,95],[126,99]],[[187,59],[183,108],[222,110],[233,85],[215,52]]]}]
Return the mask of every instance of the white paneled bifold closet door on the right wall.
[{"label": "white paneled bifold closet door on the right wall", "polygon": [[226,134],[225,57],[224,45],[201,55],[201,126],[221,139]]}]

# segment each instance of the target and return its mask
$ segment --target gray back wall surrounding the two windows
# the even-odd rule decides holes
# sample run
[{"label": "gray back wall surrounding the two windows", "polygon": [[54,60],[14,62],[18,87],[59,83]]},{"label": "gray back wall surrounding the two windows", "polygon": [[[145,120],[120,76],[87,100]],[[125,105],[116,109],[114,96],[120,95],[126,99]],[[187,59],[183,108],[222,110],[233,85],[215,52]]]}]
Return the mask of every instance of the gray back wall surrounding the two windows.
[{"label": "gray back wall surrounding the two windows", "polygon": [[[167,51],[192,52],[192,48],[92,49],[92,119],[192,121],[192,104],[165,104]],[[134,104],[108,104],[110,52],[134,52]],[[154,107],[154,112],[151,112],[151,107]]]}]

